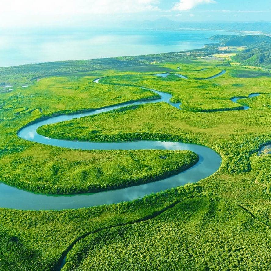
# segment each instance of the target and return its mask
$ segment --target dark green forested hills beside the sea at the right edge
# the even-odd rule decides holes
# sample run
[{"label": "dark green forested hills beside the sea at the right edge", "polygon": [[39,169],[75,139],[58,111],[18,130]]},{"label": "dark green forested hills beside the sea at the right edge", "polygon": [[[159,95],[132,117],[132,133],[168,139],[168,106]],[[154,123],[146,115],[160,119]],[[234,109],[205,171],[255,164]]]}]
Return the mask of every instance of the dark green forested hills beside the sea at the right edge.
[{"label": "dark green forested hills beside the sea at the right edge", "polygon": [[271,37],[265,35],[222,36],[215,35],[211,40],[220,40],[222,46],[245,46],[233,60],[244,65],[271,68]]}]

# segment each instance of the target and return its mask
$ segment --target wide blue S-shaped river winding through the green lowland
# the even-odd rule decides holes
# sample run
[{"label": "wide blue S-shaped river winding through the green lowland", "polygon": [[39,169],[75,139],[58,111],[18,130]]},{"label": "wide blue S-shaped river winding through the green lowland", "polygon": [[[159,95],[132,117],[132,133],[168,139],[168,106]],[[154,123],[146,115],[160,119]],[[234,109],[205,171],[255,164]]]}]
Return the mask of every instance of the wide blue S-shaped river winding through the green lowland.
[{"label": "wide blue S-shaped river winding through the green lowland", "polygon": [[[219,76],[219,75],[217,75]],[[210,78],[211,79],[211,78]],[[94,80],[99,83],[99,79]],[[199,155],[199,162],[193,167],[174,176],[165,178],[157,182],[151,182],[143,185],[132,186],[117,190],[110,190],[99,193],[77,194],[77,195],[45,195],[32,193],[26,190],[20,190],[16,187],[0,184],[0,206],[4,208],[13,208],[20,210],[62,210],[77,209],[82,207],[90,207],[103,204],[113,204],[122,201],[132,201],[139,197],[144,197],[150,193],[156,193],[161,190],[170,189],[172,187],[182,186],[189,182],[197,182],[216,172],[221,164],[221,157],[214,150],[196,144],[186,144],[181,142],[169,141],[151,141],[141,140],[132,142],[84,142],[52,139],[37,133],[37,129],[42,125],[55,124],[61,121],[68,121],[74,118],[81,118],[108,112],[120,107],[129,105],[140,105],[146,103],[166,102],[175,108],[180,109],[180,103],[170,102],[171,94],[152,90],[161,96],[160,99],[151,101],[140,101],[127,103],[125,105],[114,105],[92,110],[84,113],[60,115],[51,117],[47,120],[25,126],[18,132],[18,136],[22,139],[36,143],[57,146],[70,149],[83,150],[191,150]],[[239,98],[237,98],[239,99]]]}]

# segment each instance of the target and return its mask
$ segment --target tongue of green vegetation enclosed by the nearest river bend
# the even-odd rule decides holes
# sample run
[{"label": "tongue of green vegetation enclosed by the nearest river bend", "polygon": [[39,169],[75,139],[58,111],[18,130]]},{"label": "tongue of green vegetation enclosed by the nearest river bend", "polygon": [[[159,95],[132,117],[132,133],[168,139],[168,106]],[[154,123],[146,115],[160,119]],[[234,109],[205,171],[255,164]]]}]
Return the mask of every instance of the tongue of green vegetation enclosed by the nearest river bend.
[{"label": "tongue of green vegetation enclosed by the nearest river bend", "polygon": [[99,192],[164,179],[198,161],[190,151],[36,150],[2,158],[2,182],[47,194]]}]

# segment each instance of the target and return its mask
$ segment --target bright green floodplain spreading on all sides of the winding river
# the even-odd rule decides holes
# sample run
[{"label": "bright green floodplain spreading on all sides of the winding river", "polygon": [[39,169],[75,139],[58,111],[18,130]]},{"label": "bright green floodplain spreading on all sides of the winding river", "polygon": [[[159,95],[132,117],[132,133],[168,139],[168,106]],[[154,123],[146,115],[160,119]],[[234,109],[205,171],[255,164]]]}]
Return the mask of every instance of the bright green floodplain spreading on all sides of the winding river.
[{"label": "bright green floodplain spreading on all sides of the winding river", "polygon": [[[89,184],[94,181],[96,187],[116,185],[110,183],[110,174],[95,176],[98,165],[104,173],[110,169],[112,174],[124,176],[126,168],[112,165],[118,161],[128,166],[134,157],[130,170],[143,174],[137,179],[142,182],[148,174],[161,176],[193,164],[197,157],[192,153],[67,150],[16,135],[40,118],[157,98],[141,86],[171,93],[174,101],[182,102],[183,110],[167,103],[145,104],[44,126],[39,133],[72,140],[156,139],[202,144],[222,156],[221,168],[197,184],[127,203],[63,211],[2,208],[1,270],[59,270],[68,251],[63,270],[268,270],[271,161],[270,154],[257,154],[271,138],[270,75],[230,66],[212,52],[138,59],[119,58],[121,65],[112,59],[111,69],[110,60],[97,60],[91,68],[78,62],[81,71],[70,63],[59,69],[61,75],[56,75],[56,64],[51,70],[47,64],[38,75],[33,66],[31,76],[21,71],[15,77],[13,70],[6,69],[1,81],[14,89],[0,94],[1,180],[28,190],[71,193],[93,189]],[[222,70],[226,74],[221,77],[199,80]],[[152,75],[167,71],[172,73],[167,78]],[[32,77],[35,79],[30,81]],[[101,77],[101,84],[93,83]],[[28,87],[22,88],[25,84]],[[239,100],[240,106],[230,101],[251,93],[261,94]],[[241,110],[243,105],[250,109]],[[90,163],[96,165],[90,168]],[[143,170],[150,165],[151,171]],[[95,177],[86,183],[84,171]],[[130,180],[122,185],[130,185]]]}]

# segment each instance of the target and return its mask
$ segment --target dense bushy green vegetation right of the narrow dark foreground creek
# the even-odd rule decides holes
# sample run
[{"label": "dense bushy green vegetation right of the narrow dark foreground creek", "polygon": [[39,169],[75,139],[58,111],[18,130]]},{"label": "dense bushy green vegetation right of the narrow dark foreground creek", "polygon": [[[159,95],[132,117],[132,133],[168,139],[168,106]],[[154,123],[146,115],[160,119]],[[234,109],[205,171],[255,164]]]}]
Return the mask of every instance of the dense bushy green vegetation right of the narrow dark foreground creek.
[{"label": "dense bushy green vegetation right of the narrow dark foreground creek", "polygon": [[265,229],[227,202],[187,199],[154,219],[82,239],[63,270],[268,270]]}]

